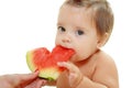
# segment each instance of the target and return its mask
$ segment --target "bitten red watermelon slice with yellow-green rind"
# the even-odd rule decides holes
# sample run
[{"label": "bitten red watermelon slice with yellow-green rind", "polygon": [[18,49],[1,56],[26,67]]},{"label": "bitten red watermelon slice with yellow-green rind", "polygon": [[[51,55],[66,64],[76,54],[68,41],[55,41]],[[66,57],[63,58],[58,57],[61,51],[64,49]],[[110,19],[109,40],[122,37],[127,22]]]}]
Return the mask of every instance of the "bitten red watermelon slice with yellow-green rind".
[{"label": "bitten red watermelon slice with yellow-green rind", "polygon": [[26,53],[26,63],[31,72],[38,70],[38,77],[47,80],[56,80],[65,69],[57,66],[57,62],[67,62],[74,51],[62,46],[55,46],[52,53],[46,47],[40,47]]}]

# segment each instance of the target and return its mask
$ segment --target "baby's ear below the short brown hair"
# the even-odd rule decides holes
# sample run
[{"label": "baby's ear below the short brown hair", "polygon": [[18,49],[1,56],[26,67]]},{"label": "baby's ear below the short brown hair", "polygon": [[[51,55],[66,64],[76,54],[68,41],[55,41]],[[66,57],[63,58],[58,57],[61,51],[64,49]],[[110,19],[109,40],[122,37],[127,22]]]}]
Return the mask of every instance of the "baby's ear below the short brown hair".
[{"label": "baby's ear below the short brown hair", "polygon": [[97,47],[99,48],[99,47],[103,46],[103,45],[107,43],[108,38],[109,38],[109,34],[108,34],[108,33],[105,33],[105,35],[101,36],[101,37],[98,40],[98,45],[97,45]]}]

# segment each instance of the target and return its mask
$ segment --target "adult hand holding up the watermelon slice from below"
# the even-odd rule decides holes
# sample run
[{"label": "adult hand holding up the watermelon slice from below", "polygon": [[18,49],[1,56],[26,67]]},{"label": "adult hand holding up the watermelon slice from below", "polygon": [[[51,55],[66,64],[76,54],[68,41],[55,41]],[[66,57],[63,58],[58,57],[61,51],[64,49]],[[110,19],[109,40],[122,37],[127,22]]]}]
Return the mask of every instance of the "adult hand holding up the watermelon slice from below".
[{"label": "adult hand holding up the watermelon slice from below", "polygon": [[41,88],[46,80],[40,79],[37,75],[38,72],[0,76],[0,88]]}]

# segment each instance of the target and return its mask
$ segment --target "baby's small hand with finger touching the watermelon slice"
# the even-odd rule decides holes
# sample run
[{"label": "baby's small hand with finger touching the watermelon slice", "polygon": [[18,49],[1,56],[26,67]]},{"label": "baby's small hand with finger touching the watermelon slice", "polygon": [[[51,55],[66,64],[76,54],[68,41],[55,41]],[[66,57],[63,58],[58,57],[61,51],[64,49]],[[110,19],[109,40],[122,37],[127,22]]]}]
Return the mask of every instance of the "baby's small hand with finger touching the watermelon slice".
[{"label": "baby's small hand with finger touching the watermelon slice", "polygon": [[76,65],[66,62],[59,62],[57,65],[67,68],[70,87],[77,87],[82,80],[82,74]]}]

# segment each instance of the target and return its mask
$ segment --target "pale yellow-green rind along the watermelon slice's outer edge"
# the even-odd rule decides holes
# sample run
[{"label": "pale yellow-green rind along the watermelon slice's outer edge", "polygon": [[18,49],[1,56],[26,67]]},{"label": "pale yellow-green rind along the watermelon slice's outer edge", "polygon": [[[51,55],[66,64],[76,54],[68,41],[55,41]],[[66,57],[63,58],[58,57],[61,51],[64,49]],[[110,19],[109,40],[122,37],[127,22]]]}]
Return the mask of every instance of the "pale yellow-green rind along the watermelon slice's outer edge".
[{"label": "pale yellow-green rind along the watermelon slice's outer edge", "polygon": [[[37,66],[33,64],[33,52],[29,51],[26,53],[26,63],[31,72],[35,72],[37,69]],[[43,68],[38,70],[38,77],[47,79],[47,80],[56,80],[57,77],[59,76],[59,70],[57,67],[48,67],[48,68]]]}]

